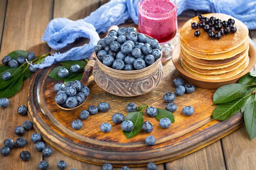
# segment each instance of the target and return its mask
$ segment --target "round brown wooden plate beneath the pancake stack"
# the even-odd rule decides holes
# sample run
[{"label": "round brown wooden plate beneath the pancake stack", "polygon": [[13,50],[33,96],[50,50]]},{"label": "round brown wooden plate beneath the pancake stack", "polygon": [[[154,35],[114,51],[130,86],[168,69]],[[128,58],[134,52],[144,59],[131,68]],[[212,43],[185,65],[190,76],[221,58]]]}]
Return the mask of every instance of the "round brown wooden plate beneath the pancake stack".
[{"label": "round brown wooden plate beneath the pancake stack", "polygon": [[209,79],[202,79],[202,78],[196,77],[194,75],[187,73],[184,70],[184,68],[180,64],[180,44],[178,44],[175,47],[172,53],[173,64],[177,68],[177,70],[180,71],[184,79],[186,79],[186,81],[188,81],[189,83],[195,86],[198,86],[201,88],[208,88],[208,89],[217,89],[227,84],[236,83],[238,82],[240,77],[248,73],[254,67],[254,64],[256,62],[256,52],[255,52],[254,46],[251,43],[249,44],[249,59],[250,59],[249,65],[242,73],[227,79],[209,80]]}]

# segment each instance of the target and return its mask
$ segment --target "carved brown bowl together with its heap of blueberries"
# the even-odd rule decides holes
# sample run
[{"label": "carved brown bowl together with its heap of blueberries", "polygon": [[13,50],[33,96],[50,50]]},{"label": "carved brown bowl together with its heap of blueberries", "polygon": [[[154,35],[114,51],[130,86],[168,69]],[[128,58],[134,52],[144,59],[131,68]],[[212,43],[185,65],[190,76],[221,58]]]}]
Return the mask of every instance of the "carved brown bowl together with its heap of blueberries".
[{"label": "carved brown bowl together with its heap of blueberries", "polygon": [[164,76],[158,41],[133,26],[110,30],[95,46],[94,57],[94,80],[113,95],[143,95],[159,86]]}]

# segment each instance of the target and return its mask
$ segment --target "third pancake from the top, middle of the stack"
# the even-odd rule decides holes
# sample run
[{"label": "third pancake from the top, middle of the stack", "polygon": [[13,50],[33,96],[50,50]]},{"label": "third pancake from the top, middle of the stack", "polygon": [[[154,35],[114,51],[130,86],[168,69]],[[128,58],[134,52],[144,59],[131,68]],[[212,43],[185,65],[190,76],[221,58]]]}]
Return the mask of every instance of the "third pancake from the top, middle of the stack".
[{"label": "third pancake from the top, middle of the stack", "polygon": [[237,62],[239,62],[240,60],[243,59],[244,54],[248,50],[249,50],[249,46],[242,53],[239,53],[238,55],[236,55],[232,58],[228,58],[228,59],[224,59],[224,60],[202,60],[202,59],[198,59],[198,58],[192,57],[191,55],[186,53],[186,51],[184,51],[183,49],[181,49],[181,54],[182,54],[183,59],[186,60],[186,62],[188,62],[192,66],[195,66],[197,68],[212,70],[212,69],[226,68],[228,66],[236,64]]}]

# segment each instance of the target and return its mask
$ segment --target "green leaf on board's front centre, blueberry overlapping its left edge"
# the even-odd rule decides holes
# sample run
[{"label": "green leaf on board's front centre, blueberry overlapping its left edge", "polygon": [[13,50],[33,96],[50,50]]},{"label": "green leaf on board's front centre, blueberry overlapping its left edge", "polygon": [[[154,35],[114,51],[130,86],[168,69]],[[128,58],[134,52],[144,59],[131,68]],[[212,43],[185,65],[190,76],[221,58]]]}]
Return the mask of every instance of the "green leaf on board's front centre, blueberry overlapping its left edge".
[{"label": "green leaf on board's front centre, blueberry overlapping its left edge", "polygon": [[130,113],[128,113],[128,115],[126,115],[124,120],[130,120],[133,123],[132,131],[126,132],[123,130],[124,135],[126,135],[127,139],[130,139],[130,138],[134,137],[135,135],[137,135],[139,133],[139,131],[141,130],[142,124],[144,122],[141,112],[130,112]]}]

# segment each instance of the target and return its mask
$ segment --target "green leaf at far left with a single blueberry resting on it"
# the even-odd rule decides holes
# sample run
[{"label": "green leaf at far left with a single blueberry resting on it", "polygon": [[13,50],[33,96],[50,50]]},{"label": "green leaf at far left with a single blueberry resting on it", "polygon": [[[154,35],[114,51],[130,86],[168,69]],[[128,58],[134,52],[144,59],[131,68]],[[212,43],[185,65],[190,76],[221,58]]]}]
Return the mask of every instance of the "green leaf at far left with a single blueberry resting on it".
[{"label": "green leaf at far left with a single blueberry resting on it", "polygon": [[8,86],[9,84],[11,84],[11,82],[15,81],[16,79],[18,79],[18,77],[20,77],[20,75],[22,75],[22,71],[20,69],[20,67],[15,67],[15,68],[9,68],[8,70],[6,70],[7,72],[11,73],[11,79],[9,80],[3,80],[2,79],[2,75],[4,72],[0,73],[0,89],[5,88],[6,86]]}]

